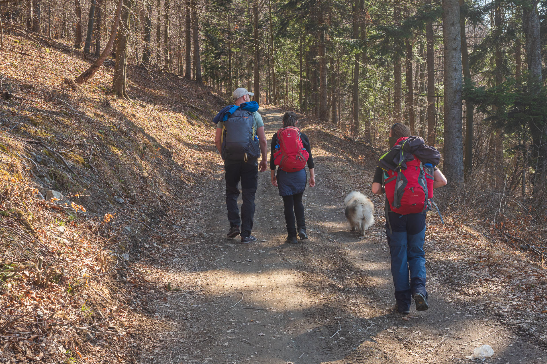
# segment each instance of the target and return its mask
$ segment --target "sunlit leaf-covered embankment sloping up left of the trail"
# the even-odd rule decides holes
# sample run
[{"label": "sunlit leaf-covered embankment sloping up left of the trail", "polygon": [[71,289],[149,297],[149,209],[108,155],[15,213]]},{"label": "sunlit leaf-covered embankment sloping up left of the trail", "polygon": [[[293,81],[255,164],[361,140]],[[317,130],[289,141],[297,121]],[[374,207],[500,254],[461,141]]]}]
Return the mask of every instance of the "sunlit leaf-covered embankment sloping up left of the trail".
[{"label": "sunlit leaf-covered embankment sloping up left of the trail", "polygon": [[89,62],[37,37],[5,35],[0,51],[0,357],[131,361],[155,324],[128,295],[127,253],[207,178],[224,100],[141,68],[131,101],[108,96],[112,67],[73,91],[64,77]]}]

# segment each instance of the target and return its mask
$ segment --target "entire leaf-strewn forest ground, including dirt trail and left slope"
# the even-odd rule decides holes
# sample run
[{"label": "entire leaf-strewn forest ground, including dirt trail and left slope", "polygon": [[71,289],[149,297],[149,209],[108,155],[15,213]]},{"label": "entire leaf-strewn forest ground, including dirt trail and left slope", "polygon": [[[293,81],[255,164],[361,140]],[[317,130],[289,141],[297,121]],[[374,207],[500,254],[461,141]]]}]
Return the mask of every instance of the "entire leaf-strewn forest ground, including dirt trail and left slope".
[{"label": "entire leaf-strewn forest ground, including dirt trail and left slope", "polygon": [[[444,225],[429,214],[431,308],[393,313],[383,198],[371,196],[377,223],[365,238],[349,231],[342,206],[351,190],[370,191],[381,151],[301,117],[316,162],[317,186],[304,194],[310,240],[284,243],[266,171],[258,241],[237,244],[224,237],[210,123],[222,95],[130,67],[132,100],[114,99],[108,64],[72,90],[63,78],[90,62],[24,35],[5,35],[0,52],[0,362],[449,362],[481,344],[496,352],[492,362],[547,362],[544,266],[487,238],[473,211],[448,213]],[[270,138],[283,110],[261,113]],[[88,212],[11,193],[28,186]],[[438,192],[444,211],[449,188]],[[32,213],[25,234],[14,206]],[[38,253],[64,278],[35,284]],[[13,262],[22,274],[8,279]]]}]

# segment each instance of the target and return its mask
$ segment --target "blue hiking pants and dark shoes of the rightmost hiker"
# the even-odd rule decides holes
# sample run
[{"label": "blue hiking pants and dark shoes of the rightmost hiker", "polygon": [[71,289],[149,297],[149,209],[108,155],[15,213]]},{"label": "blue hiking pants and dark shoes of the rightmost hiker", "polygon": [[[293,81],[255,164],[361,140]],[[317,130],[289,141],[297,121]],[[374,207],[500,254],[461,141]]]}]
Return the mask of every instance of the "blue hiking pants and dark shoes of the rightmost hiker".
[{"label": "blue hiking pants and dark shoes of the rightmost hiker", "polygon": [[[410,299],[421,293],[427,299],[426,256],[423,243],[426,237],[426,213],[400,215],[387,212],[387,243],[391,255],[391,274],[395,285],[395,301],[399,312],[410,309]],[[409,279],[410,271],[410,279]]]}]

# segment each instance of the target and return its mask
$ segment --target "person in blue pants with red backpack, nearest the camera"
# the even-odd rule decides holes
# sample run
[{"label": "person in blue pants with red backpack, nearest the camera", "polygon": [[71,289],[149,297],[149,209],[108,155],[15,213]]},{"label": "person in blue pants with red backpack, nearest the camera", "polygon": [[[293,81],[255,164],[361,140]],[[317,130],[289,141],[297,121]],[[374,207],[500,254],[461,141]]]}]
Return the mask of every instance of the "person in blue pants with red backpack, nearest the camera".
[{"label": "person in blue pants with red backpack, nearest the camera", "polygon": [[386,235],[395,307],[401,314],[409,313],[411,297],[417,311],[429,308],[423,249],[426,211],[435,204],[433,189],[446,184],[437,168],[440,153],[419,136],[410,134],[410,128],[401,123],[389,129],[390,149],[376,166],[372,186],[373,193],[386,193]]}]

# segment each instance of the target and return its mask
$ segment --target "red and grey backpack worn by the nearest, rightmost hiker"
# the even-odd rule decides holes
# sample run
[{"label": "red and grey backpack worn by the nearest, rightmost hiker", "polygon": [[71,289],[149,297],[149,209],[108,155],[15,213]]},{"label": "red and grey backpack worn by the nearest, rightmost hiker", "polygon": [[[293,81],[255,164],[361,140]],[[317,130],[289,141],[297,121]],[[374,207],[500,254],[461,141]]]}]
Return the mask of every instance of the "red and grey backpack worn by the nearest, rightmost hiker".
[{"label": "red and grey backpack worn by the nearest, rightmost hiker", "polygon": [[399,165],[396,170],[384,171],[383,185],[391,211],[406,215],[428,210],[428,201],[433,198],[433,182],[433,171],[416,157],[406,162],[406,169]]}]

